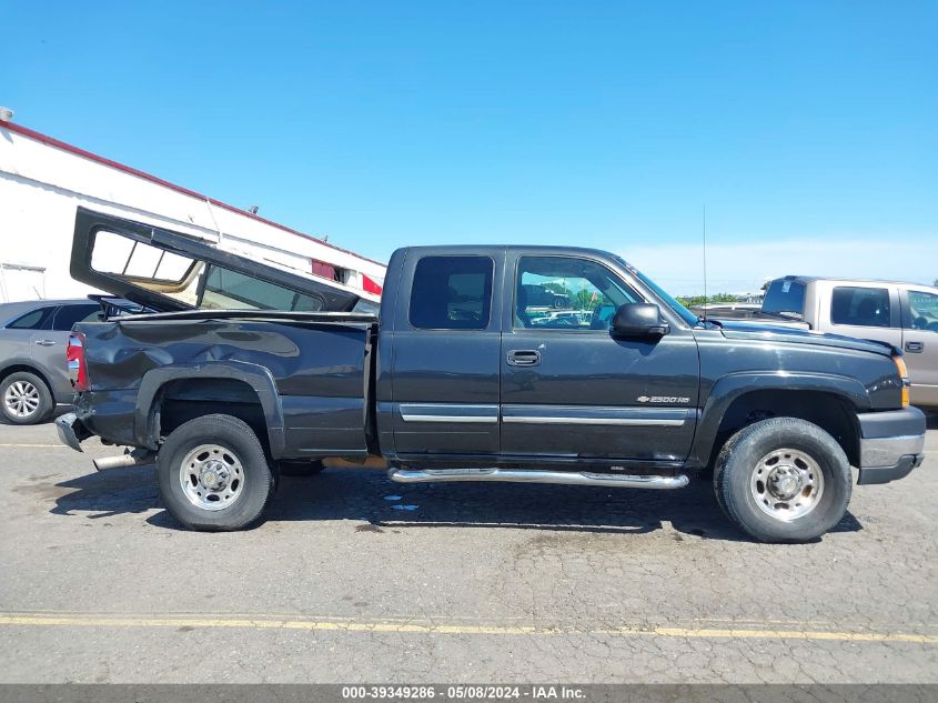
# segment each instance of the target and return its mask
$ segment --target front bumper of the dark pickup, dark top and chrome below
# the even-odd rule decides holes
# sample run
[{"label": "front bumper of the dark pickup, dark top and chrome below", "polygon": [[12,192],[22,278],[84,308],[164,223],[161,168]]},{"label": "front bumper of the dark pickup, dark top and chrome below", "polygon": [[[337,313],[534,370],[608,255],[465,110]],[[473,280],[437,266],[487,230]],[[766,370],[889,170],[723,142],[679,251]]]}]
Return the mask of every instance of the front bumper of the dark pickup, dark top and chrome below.
[{"label": "front bumper of the dark pickup, dark top and chrome below", "polygon": [[860,423],[858,485],[889,483],[925,461],[925,413],[918,408],[857,415]]}]

